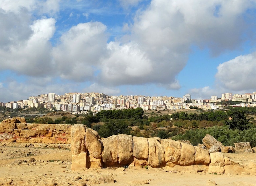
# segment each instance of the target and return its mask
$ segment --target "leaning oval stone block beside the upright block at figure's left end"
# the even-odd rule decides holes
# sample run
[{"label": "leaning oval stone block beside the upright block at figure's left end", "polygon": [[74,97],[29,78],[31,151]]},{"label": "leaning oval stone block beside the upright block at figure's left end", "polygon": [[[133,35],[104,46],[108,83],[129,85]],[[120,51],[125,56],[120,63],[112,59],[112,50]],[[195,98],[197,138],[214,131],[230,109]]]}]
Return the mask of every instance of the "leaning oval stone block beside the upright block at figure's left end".
[{"label": "leaning oval stone block beside the upright block at figure's left end", "polygon": [[101,158],[102,143],[100,141],[98,132],[92,129],[86,129],[85,132],[85,146],[89,151],[90,156]]}]

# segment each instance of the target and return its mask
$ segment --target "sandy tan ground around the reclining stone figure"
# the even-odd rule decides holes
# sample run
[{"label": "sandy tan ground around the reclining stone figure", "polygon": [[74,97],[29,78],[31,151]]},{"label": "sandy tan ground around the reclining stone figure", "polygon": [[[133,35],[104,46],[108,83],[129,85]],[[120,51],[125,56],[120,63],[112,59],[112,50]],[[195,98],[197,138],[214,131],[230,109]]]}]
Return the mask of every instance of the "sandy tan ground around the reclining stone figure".
[{"label": "sandy tan ground around the reclining stone figure", "polygon": [[[225,154],[246,163],[253,154]],[[115,181],[114,181],[115,180]],[[115,183],[111,183],[115,182]],[[0,185],[256,185],[255,175],[214,175],[193,170],[105,168],[71,171],[71,151],[0,147]]]}]

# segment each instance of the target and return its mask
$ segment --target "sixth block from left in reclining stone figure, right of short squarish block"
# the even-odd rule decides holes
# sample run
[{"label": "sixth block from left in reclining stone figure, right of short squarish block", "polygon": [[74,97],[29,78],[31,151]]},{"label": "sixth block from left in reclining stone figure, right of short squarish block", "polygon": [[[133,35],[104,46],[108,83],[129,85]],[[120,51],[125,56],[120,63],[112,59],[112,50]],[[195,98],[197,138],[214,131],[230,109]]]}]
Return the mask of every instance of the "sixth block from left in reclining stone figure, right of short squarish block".
[{"label": "sixth block from left in reclining stone figure, right of short squarish block", "polygon": [[165,165],[164,147],[155,138],[148,138],[149,143],[149,160],[148,164],[151,167],[157,168]]}]

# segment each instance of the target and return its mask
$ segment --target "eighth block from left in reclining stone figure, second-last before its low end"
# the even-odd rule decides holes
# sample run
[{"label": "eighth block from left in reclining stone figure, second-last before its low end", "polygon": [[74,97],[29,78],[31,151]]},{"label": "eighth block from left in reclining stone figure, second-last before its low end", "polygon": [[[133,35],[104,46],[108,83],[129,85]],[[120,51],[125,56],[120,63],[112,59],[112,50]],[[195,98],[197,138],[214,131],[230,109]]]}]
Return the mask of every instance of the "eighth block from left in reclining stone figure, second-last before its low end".
[{"label": "eighth block from left in reclining stone figure, second-last before its low end", "polygon": [[195,163],[195,147],[181,142],[181,166],[193,165]]}]

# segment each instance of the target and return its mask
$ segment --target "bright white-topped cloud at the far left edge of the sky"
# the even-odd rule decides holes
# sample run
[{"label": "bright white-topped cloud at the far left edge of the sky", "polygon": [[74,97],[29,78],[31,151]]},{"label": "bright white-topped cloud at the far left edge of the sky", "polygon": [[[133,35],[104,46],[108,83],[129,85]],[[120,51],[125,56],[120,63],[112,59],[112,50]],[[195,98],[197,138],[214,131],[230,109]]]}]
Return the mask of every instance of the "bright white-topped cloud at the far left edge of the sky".
[{"label": "bright white-topped cloud at the far left edge of the sky", "polygon": [[[36,20],[27,27],[32,32],[27,38],[18,36],[7,40],[0,49],[0,68],[29,76],[50,73],[52,66],[49,40],[55,32],[55,22],[53,18]],[[19,28],[15,29],[18,33]]]}]

